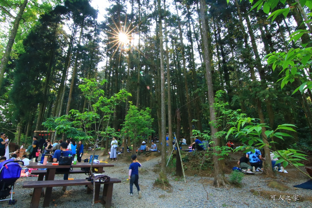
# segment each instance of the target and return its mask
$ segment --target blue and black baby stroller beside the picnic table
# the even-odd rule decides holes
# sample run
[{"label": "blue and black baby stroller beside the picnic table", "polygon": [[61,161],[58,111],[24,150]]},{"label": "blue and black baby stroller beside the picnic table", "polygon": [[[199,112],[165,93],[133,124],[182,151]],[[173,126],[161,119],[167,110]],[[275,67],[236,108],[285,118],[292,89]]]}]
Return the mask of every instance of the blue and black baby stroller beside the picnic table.
[{"label": "blue and black baby stroller beside the picnic table", "polygon": [[[0,201],[9,200],[9,205],[15,204],[13,189],[15,181],[21,176],[22,168],[18,164],[22,161],[6,160],[0,163]],[[24,162],[22,162],[24,165]],[[11,198],[5,199],[10,195]]]}]

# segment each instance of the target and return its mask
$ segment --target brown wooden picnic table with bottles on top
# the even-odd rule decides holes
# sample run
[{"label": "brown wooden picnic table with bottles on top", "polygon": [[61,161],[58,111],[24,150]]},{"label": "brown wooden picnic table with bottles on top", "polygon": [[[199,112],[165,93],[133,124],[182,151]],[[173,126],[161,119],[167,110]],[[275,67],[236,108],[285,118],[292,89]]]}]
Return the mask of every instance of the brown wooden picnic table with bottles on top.
[{"label": "brown wooden picnic table with bottles on top", "polygon": [[[54,180],[56,169],[58,169],[58,168],[70,168],[70,167],[73,167],[73,168],[76,168],[76,167],[88,168],[89,167],[90,168],[91,164],[87,163],[87,162],[77,162],[76,165],[72,164],[71,166],[70,165],[52,165],[52,163],[48,163],[47,165],[37,165],[37,162],[31,162],[28,165],[28,168],[34,168],[34,169],[36,169],[36,168],[47,168],[46,177],[45,177],[46,181],[53,181]],[[97,171],[98,173],[103,173],[103,167],[114,167],[114,165],[100,162],[100,164],[93,164],[93,166],[92,166],[92,168],[98,169],[98,171]],[[68,173],[70,173],[70,172],[68,172]],[[38,180],[43,180],[43,178],[38,177]],[[61,181],[64,181],[64,180],[61,180]],[[100,184],[95,185],[95,186],[100,186]],[[100,187],[95,187],[95,188],[93,188],[93,186],[88,186],[88,187],[89,187],[88,190],[92,189],[92,190],[100,191]],[[52,193],[52,187],[46,187],[44,201],[43,201],[43,207],[49,206],[50,201],[51,201],[51,193]],[[95,201],[98,201],[99,200],[98,199],[99,193],[96,193],[96,196],[97,196],[97,199],[95,199]]]}]

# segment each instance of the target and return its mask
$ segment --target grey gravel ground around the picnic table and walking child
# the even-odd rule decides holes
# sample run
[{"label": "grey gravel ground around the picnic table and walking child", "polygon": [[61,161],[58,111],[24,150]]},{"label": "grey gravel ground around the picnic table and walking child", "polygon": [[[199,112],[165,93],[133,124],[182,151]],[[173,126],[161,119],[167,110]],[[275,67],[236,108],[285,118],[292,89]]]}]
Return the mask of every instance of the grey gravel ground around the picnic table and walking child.
[{"label": "grey gravel ground around the picnic table and walking child", "polygon": [[[139,158],[140,159],[140,158]],[[110,161],[111,162],[111,161]],[[267,186],[266,179],[261,177],[261,173],[257,172],[255,175],[246,175],[242,181],[241,188],[215,188],[209,181],[213,180],[212,177],[199,177],[199,176],[187,176],[186,181],[175,180],[175,177],[168,175],[169,183],[171,184],[171,190],[164,191],[159,188],[155,188],[153,183],[158,177],[158,173],[154,172],[154,167],[160,162],[160,157],[150,159],[142,162],[142,169],[139,171],[139,186],[142,190],[142,198],[138,199],[138,193],[134,186],[134,196],[131,197],[129,193],[129,181],[127,181],[128,165],[126,162],[111,162],[114,167],[105,168],[105,174],[110,177],[116,177],[122,180],[121,183],[114,185],[112,207],[312,207],[310,201],[286,201],[265,199],[261,196],[254,196],[250,189],[261,189],[267,191],[277,191]],[[70,178],[81,179],[84,178],[83,174],[71,174]],[[63,175],[56,175],[56,180],[62,180]],[[278,177],[279,178],[279,177]],[[0,202],[2,207],[29,207],[32,189],[23,189],[23,181],[37,181],[37,177],[20,178],[15,183],[14,199],[18,202],[15,205],[8,206],[7,201]],[[268,179],[269,180],[269,179]],[[289,181],[284,183],[290,189],[286,191],[292,195],[299,195],[310,197],[312,196],[312,190],[305,190],[298,188],[297,190],[292,187],[295,184],[299,184],[307,181],[306,179]],[[207,192],[206,192],[206,191]],[[163,197],[159,197],[163,195]],[[100,194],[101,196],[101,194]],[[207,199],[208,197],[208,199]],[[278,196],[279,197],[279,196]],[[292,196],[291,196],[292,197]],[[291,198],[290,197],[290,198]],[[92,194],[86,194],[85,186],[70,186],[67,187],[67,191],[62,191],[62,187],[54,187],[52,191],[52,201],[50,207],[90,207],[92,201]],[[42,206],[43,198],[40,200]],[[103,207],[100,203],[95,204],[95,208]]]}]

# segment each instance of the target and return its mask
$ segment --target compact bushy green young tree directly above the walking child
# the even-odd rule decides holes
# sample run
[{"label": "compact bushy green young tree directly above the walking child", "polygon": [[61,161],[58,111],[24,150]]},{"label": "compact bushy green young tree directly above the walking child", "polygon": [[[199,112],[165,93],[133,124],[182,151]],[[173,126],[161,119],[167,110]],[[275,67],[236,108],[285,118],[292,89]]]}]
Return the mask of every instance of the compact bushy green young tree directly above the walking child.
[{"label": "compact bushy green young tree directly above the walking child", "polygon": [[120,130],[121,135],[128,136],[133,144],[140,142],[142,137],[151,135],[153,123],[151,110],[147,107],[145,110],[139,110],[130,102],[128,113]]}]

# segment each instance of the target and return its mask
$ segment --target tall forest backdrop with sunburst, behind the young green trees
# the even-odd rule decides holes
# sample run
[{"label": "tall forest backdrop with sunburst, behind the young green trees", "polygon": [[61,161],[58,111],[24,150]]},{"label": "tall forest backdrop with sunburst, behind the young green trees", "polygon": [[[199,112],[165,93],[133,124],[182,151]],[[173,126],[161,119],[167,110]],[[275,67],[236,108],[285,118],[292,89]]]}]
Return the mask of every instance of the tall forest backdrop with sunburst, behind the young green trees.
[{"label": "tall forest backdrop with sunburst, behind the young green trees", "polygon": [[[274,148],[311,149],[310,0],[0,5],[0,125],[17,143],[30,143],[51,118],[88,109],[79,86],[94,79],[107,80],[104,97],[132,94],[113,110],[115,132],[135,107],[148,109],[153,137],[169,133],[170,143],[175,132],[191,143],[193,129],[218,131],[212,104],[224,90],[231,110],[271,129],[293,126]],[[47,136],[70,136],[63,133]]]}]

